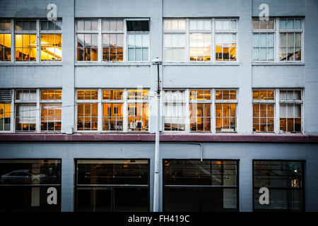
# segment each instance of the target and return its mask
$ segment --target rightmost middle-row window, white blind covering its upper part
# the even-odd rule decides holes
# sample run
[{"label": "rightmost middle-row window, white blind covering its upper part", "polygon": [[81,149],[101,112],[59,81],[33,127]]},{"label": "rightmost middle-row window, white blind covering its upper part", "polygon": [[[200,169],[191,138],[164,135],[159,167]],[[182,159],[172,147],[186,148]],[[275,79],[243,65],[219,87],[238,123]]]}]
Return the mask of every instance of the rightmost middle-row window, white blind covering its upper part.
[{"label": "rightmost middle-row window, white blind covering its upper part", "polygon": [[302,132],[302,90],[279,91],[280,130]]}]

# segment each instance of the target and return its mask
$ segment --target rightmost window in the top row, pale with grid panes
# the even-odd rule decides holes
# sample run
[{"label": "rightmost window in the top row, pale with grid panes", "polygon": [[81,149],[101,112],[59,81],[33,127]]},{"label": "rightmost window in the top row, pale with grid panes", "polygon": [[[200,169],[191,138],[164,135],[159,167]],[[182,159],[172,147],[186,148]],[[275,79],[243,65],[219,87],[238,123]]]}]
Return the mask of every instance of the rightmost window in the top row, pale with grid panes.
[{"label": "rightmost window in the top row, pale with grid panes", "polygon": [[302,60],[302,19],[280,20],[280,60]]}]

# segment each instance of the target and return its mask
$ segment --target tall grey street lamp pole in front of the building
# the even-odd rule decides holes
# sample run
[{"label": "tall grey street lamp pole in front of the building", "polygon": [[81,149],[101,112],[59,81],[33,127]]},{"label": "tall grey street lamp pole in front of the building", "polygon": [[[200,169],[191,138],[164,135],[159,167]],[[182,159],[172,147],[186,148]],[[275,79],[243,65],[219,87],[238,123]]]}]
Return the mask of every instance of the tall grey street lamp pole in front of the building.
[{"label": "tall grey street lamp pole in front of the building", "polygon": [[160,74],[159,65],[163,64],[161,59],[153,59],[153,65],[157,65],[157,120],[155,121],[155,174],[153,183],[153,212],[159,210],[159,143],[160,143]]}]

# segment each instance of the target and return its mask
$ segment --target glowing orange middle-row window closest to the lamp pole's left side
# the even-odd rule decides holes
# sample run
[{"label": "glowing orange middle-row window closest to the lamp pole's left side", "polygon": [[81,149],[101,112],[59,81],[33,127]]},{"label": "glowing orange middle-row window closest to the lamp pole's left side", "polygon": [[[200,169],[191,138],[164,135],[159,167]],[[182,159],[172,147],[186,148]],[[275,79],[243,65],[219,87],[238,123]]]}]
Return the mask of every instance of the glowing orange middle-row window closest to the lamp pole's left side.
[{"label": "glowing orange middle-row window closest to the lamp pole's left side", "polygon": [[148,90],[127,90],[128,131],[148,131]]}]

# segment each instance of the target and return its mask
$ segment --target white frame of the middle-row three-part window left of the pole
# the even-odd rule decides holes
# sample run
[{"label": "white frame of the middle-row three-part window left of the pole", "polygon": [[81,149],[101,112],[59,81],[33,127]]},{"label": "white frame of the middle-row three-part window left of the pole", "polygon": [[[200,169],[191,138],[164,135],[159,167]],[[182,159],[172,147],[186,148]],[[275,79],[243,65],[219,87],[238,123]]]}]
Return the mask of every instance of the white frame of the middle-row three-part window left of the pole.
[{"label": "white frame of the middle-row three-part window left of the pole", "polygon": [[[77,92],[78,90],[98,90],[98,100],[77,100]],[[123,99],[122,100],[102,100],[102,90],[123,90]],[[150,113],[150,100],[148,93],[148,100],[128,100],[128,90],[148,90],[150,93],[150,89],[148,88],[76,88],[75,90],[75,131],[78,133],[148,133],[150,131],[149,127],[151,125],[151,117]],[[123,103],[123,130],[122,131],[104,131],[102,130],[102,104],[105,103]],[[93,131],[85,131],[77,129],[77,104],[78,103],[98,103],[98,129]],[[128,104],[129,103],[148,103],[148,131],[128,131]]]}]

